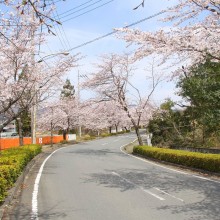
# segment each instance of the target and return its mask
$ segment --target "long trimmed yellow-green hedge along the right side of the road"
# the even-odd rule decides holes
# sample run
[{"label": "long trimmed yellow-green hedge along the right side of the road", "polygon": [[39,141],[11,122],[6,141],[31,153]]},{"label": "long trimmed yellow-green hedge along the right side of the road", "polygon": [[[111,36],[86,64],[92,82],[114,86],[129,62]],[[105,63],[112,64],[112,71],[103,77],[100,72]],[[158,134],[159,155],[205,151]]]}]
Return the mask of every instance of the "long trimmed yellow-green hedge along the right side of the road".
[{"label": "long trimmed yellow-green hedge along the right side of the road", "polygon": [[220,155],[171,150],[149,146],[134,147],[135,154],[211,172],[220,172]]}]

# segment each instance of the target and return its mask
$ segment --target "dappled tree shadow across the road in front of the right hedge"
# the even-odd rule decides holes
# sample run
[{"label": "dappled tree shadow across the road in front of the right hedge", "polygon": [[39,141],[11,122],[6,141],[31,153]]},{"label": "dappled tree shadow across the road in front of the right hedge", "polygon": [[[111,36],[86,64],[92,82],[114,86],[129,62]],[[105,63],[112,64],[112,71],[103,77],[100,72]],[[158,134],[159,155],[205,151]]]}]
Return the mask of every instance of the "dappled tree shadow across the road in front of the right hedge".
[{"label": "dappled tree shadow across the road in front of the right hedge", "polygon": [[156,207],[159,212],[184,214],[190,220],[220,220],[220,183],[217,182],[167,170],[158,172],[157,168],[105,170],[103,173],[93,173],[83,180],[84,184],[90,182],[119,189],[122,193],[138,188],[153,190],[157,187],[184,199],[182,203],[165,203]]}]

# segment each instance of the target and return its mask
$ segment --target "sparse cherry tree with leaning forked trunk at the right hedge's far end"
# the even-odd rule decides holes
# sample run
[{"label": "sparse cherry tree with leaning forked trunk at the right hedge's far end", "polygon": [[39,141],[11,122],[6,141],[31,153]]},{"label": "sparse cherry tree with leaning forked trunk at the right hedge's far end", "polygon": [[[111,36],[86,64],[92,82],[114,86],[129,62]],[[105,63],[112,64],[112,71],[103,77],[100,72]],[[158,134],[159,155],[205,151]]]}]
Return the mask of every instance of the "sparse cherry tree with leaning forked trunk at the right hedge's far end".
[{"label": "sparse cherry tree with leaning forked trunk at the right hedge's far end", "polygon": [[[160,80],[155,77],[152,71],[151,91],[143,98],[139,89],[130,82],[133,71],[133,61],[128,55],[105,55],[102,57],[101,63],[98,64],[97,72],[85,82],[84,86],[97,92],[96,100],[99,102],[113,100],[115,103],[118,103],[130,119],[137,134],[139,144],[143,145],[139,127],[143,114],[152,114],[153,107],[150,104],[150,97]],[[131,91],[133,91],[133,96],[131,96]],[[134,92],[136,93],[135,95]],[[135,97],[135,101],[131,97]]]}]

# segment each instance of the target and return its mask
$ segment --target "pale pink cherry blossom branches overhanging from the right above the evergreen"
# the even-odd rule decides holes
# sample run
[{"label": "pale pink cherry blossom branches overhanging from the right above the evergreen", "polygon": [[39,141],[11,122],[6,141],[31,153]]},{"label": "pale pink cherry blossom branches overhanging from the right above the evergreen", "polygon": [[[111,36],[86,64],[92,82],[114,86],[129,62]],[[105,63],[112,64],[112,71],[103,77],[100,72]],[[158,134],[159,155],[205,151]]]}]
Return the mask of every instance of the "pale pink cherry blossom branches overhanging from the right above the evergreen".
[{"label": "pale pink cherry blossom branches overhanging from the right above the evergreen", "polygon": [[162,20],[173,22],[173,27],[155,32],[122,28],[118,29],[119,38],[137,45],[135,59],[154,54],[162,63],[173,62],[175,58],[174,64],[184,63],[188,67],[203,63],[207,58],[219,62],[219,3],[219,0],[179,0],[164,10]]}]

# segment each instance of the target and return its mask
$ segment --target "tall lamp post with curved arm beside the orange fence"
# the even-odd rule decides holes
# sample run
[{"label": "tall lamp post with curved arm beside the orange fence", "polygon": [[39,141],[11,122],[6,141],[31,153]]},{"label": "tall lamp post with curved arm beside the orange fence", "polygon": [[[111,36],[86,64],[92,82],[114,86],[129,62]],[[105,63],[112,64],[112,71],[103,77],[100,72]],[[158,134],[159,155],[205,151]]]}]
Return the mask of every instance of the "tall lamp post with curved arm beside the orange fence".
[{"label": "tall lamp post with curved arm beside the orange fence", "polygon": [[[42,57],[40,60],[36,61],[36,63],[41,63],[44,61],[45,58],[47,57],[54,57],[57,55],[65,55],[68,56],[68,52],[59,52],[59,53],[52,53],[48,54],[44,57]],[[42,86],[41,86],[42,87]],[[39,87],[39,88],[41,88]],[[36,123],[37,123],[37,102],[38,102],[38,97],[37,97],[37,91],[36,91],[36,85],[34,85],[33,88],[33,104],[31,107],[31,142],[32,144],[36,144]]]}]

